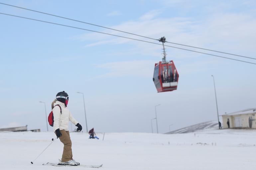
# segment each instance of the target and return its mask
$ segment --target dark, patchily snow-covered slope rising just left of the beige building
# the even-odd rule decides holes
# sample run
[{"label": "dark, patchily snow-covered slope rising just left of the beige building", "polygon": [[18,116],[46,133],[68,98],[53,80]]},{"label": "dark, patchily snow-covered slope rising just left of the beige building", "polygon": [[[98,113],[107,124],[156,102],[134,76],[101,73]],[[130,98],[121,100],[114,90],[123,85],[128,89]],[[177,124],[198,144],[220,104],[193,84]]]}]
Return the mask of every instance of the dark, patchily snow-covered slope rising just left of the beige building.
[{"label": "dark, patchily snow-covered slope rising just left of the beige building", "polygon": [[215,127],[218,128],[218,122],[208,121],[208,122],[203,122],[203,123],[198,123],[192,126],[188,126],[185,128],[181,128],[175,131],[171,131],[166,134],[184,134],[184,133],[197,132],[204,129],[215,128]]}]

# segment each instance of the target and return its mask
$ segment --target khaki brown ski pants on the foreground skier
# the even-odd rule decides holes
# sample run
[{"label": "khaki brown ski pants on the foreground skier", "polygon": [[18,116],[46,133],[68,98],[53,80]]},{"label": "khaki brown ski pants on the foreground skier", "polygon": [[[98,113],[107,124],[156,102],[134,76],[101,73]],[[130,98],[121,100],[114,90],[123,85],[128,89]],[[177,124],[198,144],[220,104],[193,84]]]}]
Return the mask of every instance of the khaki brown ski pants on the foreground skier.
[{"label": "khaki brown ski pants on the foreground skier", "polygon": [[[62,154],[62,162],[66,162],[73,159],[72,155],[72,142],[69,136],[69,131],[60,130],[62,136],[59,137],[60,141],[64,144],[63,154]],[[56,132],[54,132],[56,134]]]}]

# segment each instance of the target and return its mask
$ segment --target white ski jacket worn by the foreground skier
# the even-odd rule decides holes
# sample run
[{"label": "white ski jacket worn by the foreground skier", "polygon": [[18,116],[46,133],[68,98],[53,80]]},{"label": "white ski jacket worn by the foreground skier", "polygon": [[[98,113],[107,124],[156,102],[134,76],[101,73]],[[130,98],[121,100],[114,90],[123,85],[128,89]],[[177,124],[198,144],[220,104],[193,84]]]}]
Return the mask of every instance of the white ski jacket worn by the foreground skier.
[{"label": "white ski jacket worn by the foreground skier", "polygon": [[[57,104],[59,104],[61,106],[62,114],[61,114],[60,107],[56,106]],[[54,123],[53,123],[54,131],[56,131],[56,129],[68,131],[68,122],[69,121],[72,122],[74,125],[76,125],[78,123],[73,118],[72,114],[70,113],[69,109],[65,106],[65,104],[60,101],[56,101],[54,103],[53,117],[54,117]]]}]

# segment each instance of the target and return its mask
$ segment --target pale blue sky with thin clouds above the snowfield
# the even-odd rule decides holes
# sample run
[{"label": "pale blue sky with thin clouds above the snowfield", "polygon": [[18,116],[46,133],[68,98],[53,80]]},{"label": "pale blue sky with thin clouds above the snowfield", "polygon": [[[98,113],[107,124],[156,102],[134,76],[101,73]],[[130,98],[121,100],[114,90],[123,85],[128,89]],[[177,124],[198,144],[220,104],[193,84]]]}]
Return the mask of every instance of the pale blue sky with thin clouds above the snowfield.
[{"label": "pale blue sky with thin clouds above the snowfield", "polygon": [[[0,2],[256,58],[253,0]],[[148,40],[5,5],[0,5],[0,12]],[[165,133],[171,124],[175,130],[217,118],[212,74],[220,114],[256,107],[255,65],[167,47],[167,59],[174,60],[180,74],[179,86],[157,93],[152,77],[154,64],[162,58],[160,45],[4,15],[0,21],[2,128],[28,125],[45,131],[44,105],[39,101],[46,102],[48,114],[56,94],[65,90],[70,111],[84,131],[83,100],[76,91],[85,94],[88,128],[96,132],[151,132],[155,105],[161,103],[158,125]]]}]

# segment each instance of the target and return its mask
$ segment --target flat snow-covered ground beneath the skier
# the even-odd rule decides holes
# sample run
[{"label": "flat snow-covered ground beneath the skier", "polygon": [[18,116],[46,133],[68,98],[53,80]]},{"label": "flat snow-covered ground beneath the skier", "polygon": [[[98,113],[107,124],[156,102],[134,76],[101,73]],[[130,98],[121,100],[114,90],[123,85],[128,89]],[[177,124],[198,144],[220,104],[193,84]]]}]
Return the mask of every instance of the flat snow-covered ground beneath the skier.
[{"label": "flat snow-covered ground beneath the skier", "polygon": [[[256,131],[218,130],[187,134],[70,133],[73,158],[102,170],[251,170],[256,169]],[[58,162],[63,144],[53,132],[0,132],[0,170],[68,170],[82,167],[43,166]],[[94,168],[85,168],[94,169]],[[95,170],[95,169],[94,169]]]}]

